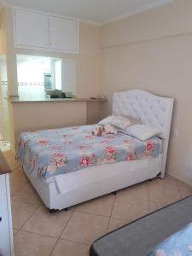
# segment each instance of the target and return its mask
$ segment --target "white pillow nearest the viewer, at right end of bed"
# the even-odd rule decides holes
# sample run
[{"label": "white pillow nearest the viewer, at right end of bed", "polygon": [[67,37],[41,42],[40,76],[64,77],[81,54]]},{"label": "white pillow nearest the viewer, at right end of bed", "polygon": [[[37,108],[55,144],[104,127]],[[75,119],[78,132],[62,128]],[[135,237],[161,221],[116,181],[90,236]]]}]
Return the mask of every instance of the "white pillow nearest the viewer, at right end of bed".
[{"label": "white pillow nearest the viewer, at right end of bed", "polygon": [[148,125],[136,124],[130,125],[129,127],[123,130],[121,129],[120,131],[132,137],[137,137],[142,141],[146,141],[150,137],[158,136],[162,132],[162,129]]}]

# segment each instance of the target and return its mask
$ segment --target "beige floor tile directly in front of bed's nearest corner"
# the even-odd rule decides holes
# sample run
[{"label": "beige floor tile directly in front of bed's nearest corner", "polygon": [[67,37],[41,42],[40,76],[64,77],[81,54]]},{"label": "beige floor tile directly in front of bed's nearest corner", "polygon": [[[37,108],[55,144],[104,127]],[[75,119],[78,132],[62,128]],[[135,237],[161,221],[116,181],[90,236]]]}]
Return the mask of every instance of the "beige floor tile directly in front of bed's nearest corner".
[{"label": "beige floor tile directly in front of bed's nearest corner", "polygon": [[72,213],[70,210],[67,212],[50,213],[44,206],[38,207],[38,210],[26,221],[22,230],[31,231],[40,235],[59,237]]}]

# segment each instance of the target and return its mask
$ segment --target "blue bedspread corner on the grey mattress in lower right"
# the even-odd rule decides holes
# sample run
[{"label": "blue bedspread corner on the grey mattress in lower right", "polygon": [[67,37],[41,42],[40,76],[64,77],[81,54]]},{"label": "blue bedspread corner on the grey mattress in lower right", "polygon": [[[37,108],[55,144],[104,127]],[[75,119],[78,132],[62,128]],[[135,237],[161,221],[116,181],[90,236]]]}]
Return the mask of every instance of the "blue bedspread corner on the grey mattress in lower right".
[{"label": "blue bedspread corner on the grey mattress in lower right", "polygon": [[192,255],[192,223],[173,234],[153,249],[148,256]]}]

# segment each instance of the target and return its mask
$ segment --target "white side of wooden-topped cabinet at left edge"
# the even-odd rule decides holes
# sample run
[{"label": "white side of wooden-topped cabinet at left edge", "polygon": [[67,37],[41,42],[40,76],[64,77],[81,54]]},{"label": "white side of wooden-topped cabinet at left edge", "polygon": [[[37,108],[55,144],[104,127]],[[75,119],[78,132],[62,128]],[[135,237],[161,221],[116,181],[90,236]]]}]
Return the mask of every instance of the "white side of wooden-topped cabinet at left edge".
[{"label": "white side of wooden-topped cabinet at left edge", "polygon": [[0,254],[14,255],[9,173],[0,175]]}]

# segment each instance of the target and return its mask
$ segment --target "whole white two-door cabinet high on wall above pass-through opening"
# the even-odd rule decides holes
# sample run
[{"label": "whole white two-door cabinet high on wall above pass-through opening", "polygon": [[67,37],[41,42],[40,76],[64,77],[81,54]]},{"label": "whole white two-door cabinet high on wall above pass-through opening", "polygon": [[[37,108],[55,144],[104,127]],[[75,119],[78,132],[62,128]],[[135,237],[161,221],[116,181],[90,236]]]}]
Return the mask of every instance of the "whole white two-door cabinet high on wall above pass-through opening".
[{"label": "whole white two-door cabinet high on wall above pass-through opening", "polygon": [[15,47],[78,54],[78,20],[14,9]]}]

